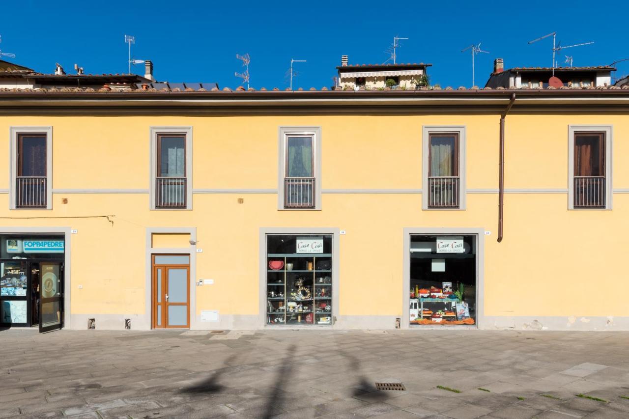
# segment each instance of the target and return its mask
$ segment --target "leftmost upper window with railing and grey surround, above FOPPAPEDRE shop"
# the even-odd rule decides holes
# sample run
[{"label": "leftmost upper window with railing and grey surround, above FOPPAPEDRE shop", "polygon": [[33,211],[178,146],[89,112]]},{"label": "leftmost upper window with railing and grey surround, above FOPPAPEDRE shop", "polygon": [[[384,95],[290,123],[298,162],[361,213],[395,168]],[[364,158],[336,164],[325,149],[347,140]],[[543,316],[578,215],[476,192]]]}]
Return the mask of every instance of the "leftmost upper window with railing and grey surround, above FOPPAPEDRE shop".
[{"label": "leftmost upper window with railing and grey surround, above FOPPAPEDRE shop", "polygon": [[11,209],[50,209],[52,128],[11,128]]}]

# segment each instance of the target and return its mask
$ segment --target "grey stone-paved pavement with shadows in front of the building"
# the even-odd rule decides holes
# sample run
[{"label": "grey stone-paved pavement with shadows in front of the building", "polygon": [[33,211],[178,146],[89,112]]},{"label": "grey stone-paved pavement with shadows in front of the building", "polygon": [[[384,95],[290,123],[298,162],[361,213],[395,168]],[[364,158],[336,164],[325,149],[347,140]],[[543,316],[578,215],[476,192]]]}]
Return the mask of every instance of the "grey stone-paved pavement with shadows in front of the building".
[{"label": "grey stone-paved pavement with shadows in front of the building", "polygon": [[0,331],[0,418],[65,416],[626,419],[629,332]]}]

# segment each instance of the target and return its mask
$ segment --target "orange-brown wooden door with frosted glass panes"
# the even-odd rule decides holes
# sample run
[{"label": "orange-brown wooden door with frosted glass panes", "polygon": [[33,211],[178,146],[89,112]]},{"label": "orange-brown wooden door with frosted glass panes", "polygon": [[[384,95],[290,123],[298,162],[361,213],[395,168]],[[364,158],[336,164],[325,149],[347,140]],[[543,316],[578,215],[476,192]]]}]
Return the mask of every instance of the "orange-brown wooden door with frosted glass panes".
[{"label": "orange-brown wooden door with frosted glass panes", "polygon": [[152,327],[190,327],[190,256],[153,255]]}]

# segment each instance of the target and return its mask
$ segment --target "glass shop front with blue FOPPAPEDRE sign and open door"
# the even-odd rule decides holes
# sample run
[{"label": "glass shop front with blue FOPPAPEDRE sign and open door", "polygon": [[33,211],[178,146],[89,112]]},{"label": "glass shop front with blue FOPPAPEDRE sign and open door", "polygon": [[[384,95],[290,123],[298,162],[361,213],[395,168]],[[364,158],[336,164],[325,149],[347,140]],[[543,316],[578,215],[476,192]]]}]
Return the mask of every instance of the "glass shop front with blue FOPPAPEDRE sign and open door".
[{"label": "glass shop front with blue FOPPAPEDRE sign and open door", "polygon": [[0,327],[63,326],[65,240],[0,235]]}]

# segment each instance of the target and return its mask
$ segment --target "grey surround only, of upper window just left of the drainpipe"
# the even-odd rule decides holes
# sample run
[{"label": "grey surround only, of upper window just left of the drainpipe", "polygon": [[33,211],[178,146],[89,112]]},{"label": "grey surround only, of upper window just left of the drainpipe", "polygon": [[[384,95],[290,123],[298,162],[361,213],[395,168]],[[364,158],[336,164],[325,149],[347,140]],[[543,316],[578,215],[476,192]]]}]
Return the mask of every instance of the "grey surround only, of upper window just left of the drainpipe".
[{"label": "grey surround only, of upper window just left of the drainpipe", "polygon": [[[467,208],[467,186],[465,177],[466,135],[465,125],[425,125],[421,133],[421,208],[427,211],[461,211]],[[459,208],[428,208],[428,147],[430,134],[456,133],[459,135]]]}]

